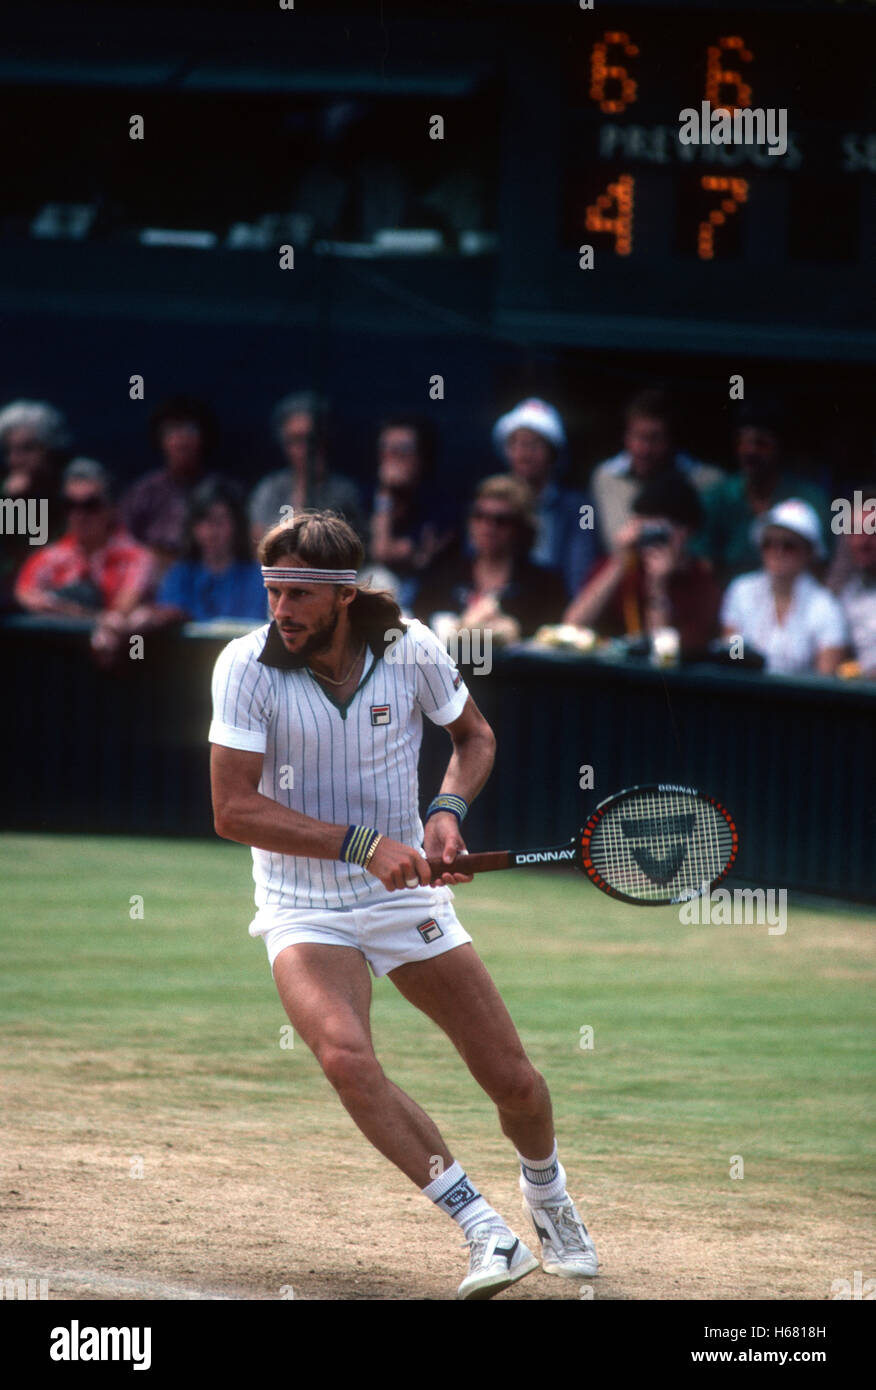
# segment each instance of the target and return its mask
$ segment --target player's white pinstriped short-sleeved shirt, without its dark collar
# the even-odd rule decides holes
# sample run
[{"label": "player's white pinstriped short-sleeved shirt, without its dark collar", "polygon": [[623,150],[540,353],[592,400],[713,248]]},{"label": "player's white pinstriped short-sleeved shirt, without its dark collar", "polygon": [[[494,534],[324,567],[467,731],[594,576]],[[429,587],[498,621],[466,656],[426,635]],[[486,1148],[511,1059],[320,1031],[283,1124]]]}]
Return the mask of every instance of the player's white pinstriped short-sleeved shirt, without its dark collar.
[{"label": "player's white pinstriped short-sleeved shirt, without its dark collar", "polygon": [[[423,714],[451,724],[469,691],[446,649],[409,621],[339,706],[306,667],[289,666],[274,624],[239,637],[213,671],[210,742],[264,753],[263,796],[336,826],[373,826],[423,847],[417,762]],[[256,905],[349,909],[385,898],[374,874],[335,859],[253,848]]]}]

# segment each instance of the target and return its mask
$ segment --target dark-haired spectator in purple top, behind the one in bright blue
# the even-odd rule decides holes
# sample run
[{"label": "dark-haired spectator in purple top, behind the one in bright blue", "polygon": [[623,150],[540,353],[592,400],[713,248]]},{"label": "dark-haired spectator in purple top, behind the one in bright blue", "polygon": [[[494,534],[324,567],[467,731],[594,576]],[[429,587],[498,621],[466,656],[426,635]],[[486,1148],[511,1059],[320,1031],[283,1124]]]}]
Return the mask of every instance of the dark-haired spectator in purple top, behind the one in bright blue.
[{"label": "dark-haired spectator in purple top, behind the one in bright blue", "polygon": [[152,442],[164,461],[128,489],[121,512],[131,535],[163,569],[182,553],[189,496],[204,477],[216,435],[213,411],[195,396],[172,396],[152,417]]}]

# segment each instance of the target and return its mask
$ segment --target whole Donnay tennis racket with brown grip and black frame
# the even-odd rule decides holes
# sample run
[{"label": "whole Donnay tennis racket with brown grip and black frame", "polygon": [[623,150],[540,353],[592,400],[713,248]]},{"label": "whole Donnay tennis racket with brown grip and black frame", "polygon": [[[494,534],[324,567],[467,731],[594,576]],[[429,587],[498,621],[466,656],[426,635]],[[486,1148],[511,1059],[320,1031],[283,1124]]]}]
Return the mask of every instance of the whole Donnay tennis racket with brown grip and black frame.
[{"label": "whole Donnay tennis racket with brown grip and black frame", "polygon": [[460,855],[442,873],[489,873],[570,865],[602,892],[638,906],[688,902],[733,867],[740,837],[729,810],[692,787],[630,787],[601,802],[583,830],[549,849],[499,849]]}]

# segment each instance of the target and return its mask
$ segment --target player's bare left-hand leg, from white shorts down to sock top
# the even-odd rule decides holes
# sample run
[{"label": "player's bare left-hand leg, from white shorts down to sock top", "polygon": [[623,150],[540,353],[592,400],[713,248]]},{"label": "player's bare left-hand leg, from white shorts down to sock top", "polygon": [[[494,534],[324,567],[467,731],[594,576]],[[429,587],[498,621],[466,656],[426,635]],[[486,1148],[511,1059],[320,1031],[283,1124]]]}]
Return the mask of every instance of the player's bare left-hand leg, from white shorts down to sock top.
[{"label": "player's bare left-hand leg, from white shorts down to sock top", "polygon": [[437,1126],[391,1081],[371,1041],[371,977],[352,947],[300,942],[274,960],[274,980],[289,1022],[317,1058],[362,1133],[417,1187],[435,1156],[453,1162]]}]

